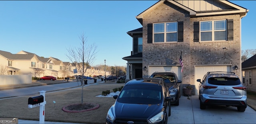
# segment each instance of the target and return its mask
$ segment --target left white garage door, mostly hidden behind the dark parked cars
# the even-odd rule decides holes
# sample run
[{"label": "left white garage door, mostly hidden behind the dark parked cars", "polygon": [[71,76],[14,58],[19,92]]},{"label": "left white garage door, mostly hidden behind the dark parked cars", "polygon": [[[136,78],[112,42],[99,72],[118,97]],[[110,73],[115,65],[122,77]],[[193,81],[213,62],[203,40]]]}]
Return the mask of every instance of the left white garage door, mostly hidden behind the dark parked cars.
[{"label": "left white garage door, mostly hidden behind the dark parked cars", "polygon": [[178,79],[181,79],[181,66],[149,66],[148,75],[151,76],[156,71],[173,71],[177,74]]}]

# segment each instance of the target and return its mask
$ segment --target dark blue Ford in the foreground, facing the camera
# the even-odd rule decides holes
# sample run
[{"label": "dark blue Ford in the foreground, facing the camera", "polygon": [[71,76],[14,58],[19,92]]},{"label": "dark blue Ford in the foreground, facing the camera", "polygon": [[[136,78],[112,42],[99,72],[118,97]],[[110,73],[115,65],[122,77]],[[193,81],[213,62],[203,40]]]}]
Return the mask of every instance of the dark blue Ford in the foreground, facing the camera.
[{"label": "dark blue Ford in the foreground, facing the camera", "polygon": [[166,124],[171,98],[160,78],[130,80],[108,110],[106,124]]}]

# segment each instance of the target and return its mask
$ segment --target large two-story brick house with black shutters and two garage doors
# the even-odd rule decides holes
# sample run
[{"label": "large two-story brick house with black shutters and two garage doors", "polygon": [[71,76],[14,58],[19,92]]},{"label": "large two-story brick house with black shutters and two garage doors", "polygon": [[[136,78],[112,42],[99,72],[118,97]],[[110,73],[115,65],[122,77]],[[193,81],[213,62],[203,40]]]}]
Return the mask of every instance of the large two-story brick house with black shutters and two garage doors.
[{"label": "large two-story brick house with black shutters and two garage doors", "polygon": [[[126,81],[155,71],[174,71],[182,85],[194,86],[206,72],[241,77],[241,19],[248,10],[227,0],[160,0],[136,16]],[[183,72],[179,64],[182,53]],[[234,68],[234,67],[238,68]]]}]

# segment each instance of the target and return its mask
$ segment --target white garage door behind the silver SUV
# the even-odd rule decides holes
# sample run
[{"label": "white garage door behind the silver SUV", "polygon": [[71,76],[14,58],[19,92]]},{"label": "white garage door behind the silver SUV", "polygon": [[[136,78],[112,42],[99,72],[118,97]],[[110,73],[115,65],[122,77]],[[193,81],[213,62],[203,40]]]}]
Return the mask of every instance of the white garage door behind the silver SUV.
[{"label": "white garage door behind the silver SUV", "polygon": [[197,79],[201,79],[204,77],[204,74],[207,72],[231,72],[231,66],[195,66],[195,95],[198,95],[199,92],[199,84],[200,82],[197,82]]}]

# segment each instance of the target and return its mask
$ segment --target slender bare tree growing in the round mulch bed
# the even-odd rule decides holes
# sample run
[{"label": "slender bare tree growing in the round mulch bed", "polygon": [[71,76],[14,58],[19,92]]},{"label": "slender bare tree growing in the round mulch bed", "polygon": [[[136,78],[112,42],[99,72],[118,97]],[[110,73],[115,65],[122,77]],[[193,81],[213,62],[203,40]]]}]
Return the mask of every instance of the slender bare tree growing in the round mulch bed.
[{"label": "slender bare tree growing in the round mulch bed", "polygon": [[69,60],[76,65],[76,69],[80,75],[82,75],[81,85],[82,85],[82,98],[81,102],[83,104],[83,94],[84,94],[84,74],[88,68],[89,64],[92,64],[96,58],[97,46],[93,44],[89,44],[87,41],[87,37],[85,37],[84,32],[78,36],[81,40],[80,46],[69,47],[68,54],[66,56]]}]

